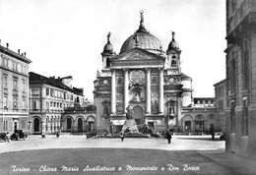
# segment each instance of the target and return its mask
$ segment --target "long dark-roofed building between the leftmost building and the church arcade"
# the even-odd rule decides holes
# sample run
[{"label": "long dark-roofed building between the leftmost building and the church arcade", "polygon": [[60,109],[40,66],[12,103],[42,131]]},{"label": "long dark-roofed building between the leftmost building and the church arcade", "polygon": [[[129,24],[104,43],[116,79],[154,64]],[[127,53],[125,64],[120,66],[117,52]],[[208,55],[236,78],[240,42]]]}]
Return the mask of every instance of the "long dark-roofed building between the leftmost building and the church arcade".
[{"label": "long dark-roofed building between the leftmost building and the church arcade", "polygon": [[[74,131],[72,129],[78,128],[77,125],[81,127],[80,122],[76,122],[76,117],[80,115],[79,112],[75,112],[72,116],[67,115],[68,112],[65,113],[71,108],[86,106],[84,89],[72,87],[71,81],[71,76],[56,79],[30,72],[30,121],[32,123],[30,130],[32,134],[55,133],[58,130],[71,132]],[[82,114],[84,113],[85,111]],[[72,118],[71,122],[69,116]],[[82,123],[82,128],[84,125],[85,123]]]}]

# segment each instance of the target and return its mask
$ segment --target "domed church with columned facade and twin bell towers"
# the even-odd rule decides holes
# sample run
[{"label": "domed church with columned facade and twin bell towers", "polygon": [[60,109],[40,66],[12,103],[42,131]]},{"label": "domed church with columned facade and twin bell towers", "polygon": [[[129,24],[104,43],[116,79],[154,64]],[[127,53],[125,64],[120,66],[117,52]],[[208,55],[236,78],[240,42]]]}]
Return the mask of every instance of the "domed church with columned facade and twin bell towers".
[{"label": "domed church with columned facade and twin bell towers", "polygon": [[191,105],[192,79],[181,72],[175,33],[164,52],[160,40],[145,28],[143,12],[140,17],[139,29],[124,41],[119,54],[110,32],[107,35],[102,70],[94,82],[97,130],[121,128],[128,106],[137,126],[178,130],[183,125],[182,106]]}]

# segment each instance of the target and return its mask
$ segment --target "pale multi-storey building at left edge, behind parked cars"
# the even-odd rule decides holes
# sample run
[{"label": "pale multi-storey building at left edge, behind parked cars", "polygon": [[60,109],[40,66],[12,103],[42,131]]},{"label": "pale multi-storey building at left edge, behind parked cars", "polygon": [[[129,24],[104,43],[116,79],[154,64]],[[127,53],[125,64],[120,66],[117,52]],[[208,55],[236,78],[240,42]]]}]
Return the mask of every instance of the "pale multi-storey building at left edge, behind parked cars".
[{"label": "pale multi-storey building at left edge, behind parked cars", "polygon": [[29,131],[29,64],[20,50],[0,45],[0,133]]}]

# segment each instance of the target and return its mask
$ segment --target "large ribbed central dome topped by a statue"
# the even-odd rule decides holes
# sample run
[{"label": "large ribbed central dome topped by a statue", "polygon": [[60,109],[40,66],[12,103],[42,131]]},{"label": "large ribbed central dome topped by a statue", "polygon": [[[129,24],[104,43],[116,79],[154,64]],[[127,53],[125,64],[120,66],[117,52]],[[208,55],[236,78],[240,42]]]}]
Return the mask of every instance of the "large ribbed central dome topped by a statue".
[{"label": "large ribbed central dome topped by a statue", "polygon": [[151,34],[144,27],[143,12],[141,12],[141,22],[139,29],[134,34],[129,36],[123,43],[120,54],[133,48],[141,48],[155,54],[163,54],[160,40]]}]

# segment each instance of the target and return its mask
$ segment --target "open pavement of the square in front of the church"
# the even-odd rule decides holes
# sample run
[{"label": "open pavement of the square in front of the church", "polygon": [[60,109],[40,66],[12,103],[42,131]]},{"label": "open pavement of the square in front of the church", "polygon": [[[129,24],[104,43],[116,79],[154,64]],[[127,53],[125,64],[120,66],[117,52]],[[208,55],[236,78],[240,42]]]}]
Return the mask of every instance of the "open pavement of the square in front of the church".
[{"label": "open pavement of the square in front of the church", "polygon": [[[59,139],[30,136],[26,141],[0,143],[0,175],[256,174],[254,161],[224,153],[224,141],[210,138],[174,136],[167,145],[163,139],[125,139],[122,143],[120,139],[86,139],[85,136],[61,135]],[[65,166],[79,171],[62,171]],[[30,172],[19,172],[19,168],[30,168]],[[56,168],[57,172],[47,171],[50,168]],[[107,168],[115,170],[107,171]]]}]

